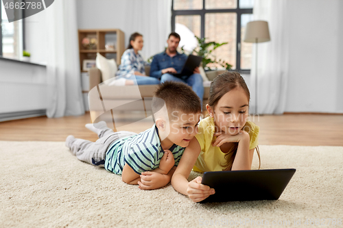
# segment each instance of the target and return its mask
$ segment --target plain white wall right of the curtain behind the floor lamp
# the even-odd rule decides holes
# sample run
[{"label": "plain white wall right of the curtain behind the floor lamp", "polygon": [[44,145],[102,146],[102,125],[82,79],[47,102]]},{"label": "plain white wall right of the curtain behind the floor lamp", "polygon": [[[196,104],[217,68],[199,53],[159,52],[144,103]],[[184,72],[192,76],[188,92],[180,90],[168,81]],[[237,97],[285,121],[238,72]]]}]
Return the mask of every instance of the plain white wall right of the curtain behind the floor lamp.
[{"label": "plain white wall right of the curtain behind the floor lamp", "polygon": [[340,0],[290,1],[285,112],[343,113],[342,6]]}]

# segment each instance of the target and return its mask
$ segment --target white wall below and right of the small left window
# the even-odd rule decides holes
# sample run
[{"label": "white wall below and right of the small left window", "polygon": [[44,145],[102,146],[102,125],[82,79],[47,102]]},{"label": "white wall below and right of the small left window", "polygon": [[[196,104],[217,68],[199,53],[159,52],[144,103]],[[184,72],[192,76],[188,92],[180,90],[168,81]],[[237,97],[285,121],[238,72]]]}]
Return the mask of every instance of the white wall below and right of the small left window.
[{"label": "white wall below and right of the small left window", "polygon": [[[30,62],[38,64],[45,64],[48,54],[45,16],[43,11],[25,19],[25,49],[31,53]],[[0,60],[0,116],[46,110],[47,104],[45,66]]]}]

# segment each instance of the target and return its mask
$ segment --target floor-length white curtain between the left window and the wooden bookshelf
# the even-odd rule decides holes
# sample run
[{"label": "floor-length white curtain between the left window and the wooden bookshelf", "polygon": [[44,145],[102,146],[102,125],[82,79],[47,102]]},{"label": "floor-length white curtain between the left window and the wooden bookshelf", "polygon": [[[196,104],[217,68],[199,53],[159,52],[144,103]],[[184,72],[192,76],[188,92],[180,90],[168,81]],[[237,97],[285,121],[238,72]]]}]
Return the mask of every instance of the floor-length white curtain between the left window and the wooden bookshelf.
[{"label": "floor-length white curtain between the left window and the wooden bookshelf", "polygon": [[47,10],[47,116],[84,114],[75,0],[60,0]]}]

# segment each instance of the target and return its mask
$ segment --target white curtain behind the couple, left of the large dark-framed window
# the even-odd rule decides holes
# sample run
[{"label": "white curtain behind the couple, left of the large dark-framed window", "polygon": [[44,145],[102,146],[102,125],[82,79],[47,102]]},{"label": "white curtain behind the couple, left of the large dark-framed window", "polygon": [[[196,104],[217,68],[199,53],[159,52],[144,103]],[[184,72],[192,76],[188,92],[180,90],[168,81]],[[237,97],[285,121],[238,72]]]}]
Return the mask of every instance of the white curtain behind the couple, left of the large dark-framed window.
[{"label": "white curtain behind the couple, left of the large dark-framed window", "polygon": [[171,33],[171,0],[130,0],[125,1],[125,42],[135,31],[143,34],[144,47],[141,55],[146,60],[164,51]]}]

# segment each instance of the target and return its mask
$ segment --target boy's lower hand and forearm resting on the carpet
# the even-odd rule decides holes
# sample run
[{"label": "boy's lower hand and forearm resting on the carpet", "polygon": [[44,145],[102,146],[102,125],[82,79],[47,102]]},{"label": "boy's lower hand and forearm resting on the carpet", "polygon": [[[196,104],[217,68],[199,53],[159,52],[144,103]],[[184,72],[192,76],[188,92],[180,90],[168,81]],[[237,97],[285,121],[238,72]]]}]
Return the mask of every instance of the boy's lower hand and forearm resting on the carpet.
[{"label": "boy's lower hand and forearm resting on the carpet", "polygon": [[168,175],[147,171],[141,174],[141,181],[138,181],[138,185],[142,190],[153,190],[166,186],[169,181]]}]

